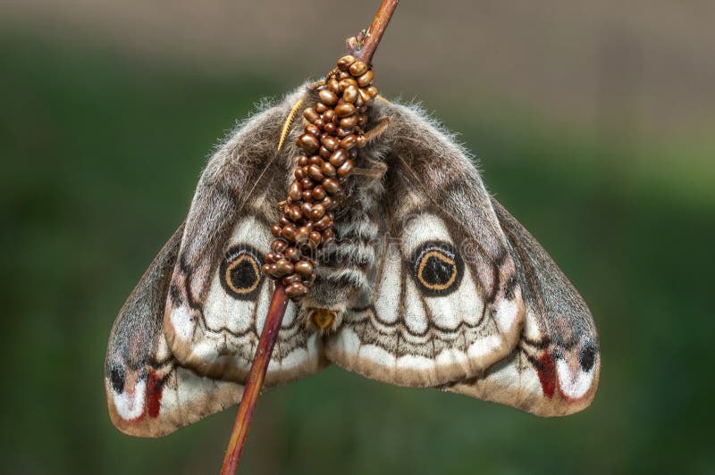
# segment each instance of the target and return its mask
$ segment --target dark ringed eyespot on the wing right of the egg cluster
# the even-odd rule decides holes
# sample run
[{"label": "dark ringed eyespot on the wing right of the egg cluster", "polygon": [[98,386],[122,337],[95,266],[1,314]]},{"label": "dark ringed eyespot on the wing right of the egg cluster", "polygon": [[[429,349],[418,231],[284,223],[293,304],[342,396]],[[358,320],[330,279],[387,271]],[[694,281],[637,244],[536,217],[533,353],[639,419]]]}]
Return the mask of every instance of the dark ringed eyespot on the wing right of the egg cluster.
[{"label": "dark ringed eyespot on the wing right of the egg cluster", "polygon": [[464,262],[450,243],[429,241],[412,254],[413,277],[426,296],[448,296],[458,289]]}]

